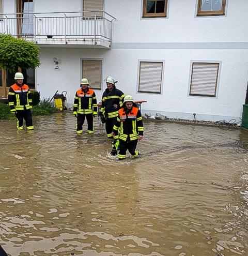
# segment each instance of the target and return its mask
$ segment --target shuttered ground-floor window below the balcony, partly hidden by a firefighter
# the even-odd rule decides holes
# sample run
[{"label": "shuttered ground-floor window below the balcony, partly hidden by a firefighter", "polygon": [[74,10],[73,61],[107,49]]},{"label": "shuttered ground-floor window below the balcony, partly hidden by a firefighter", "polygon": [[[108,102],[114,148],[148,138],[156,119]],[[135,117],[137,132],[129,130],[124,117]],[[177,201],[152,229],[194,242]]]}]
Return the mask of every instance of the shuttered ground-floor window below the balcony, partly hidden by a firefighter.
[{"label": "shuttered ground-floor window below the balcony, partly hidden by a firefighter", "polygon": [[82,78],[87,78],[93,89],[101,89],[102,61],[84,59],[82,61]]}]

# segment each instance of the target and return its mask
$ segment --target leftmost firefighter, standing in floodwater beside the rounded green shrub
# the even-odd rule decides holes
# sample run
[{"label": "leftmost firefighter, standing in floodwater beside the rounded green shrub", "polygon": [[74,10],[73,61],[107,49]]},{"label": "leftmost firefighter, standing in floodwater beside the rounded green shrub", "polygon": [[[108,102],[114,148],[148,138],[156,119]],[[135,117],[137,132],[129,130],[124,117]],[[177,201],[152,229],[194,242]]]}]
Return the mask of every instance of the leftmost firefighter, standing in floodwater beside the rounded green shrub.
[{"label": "leftmost firefighter, standing in floodwater beside the rounded green shrub", "polygon": [[26,84],[23,84],[23,74],[14,74],[15,84],[9,88],[9,107],[10,112],[17,117],[17,129],[23,130],[23,118],[26,122],[27,130],[34,130],[31,109],[31,94]]}]

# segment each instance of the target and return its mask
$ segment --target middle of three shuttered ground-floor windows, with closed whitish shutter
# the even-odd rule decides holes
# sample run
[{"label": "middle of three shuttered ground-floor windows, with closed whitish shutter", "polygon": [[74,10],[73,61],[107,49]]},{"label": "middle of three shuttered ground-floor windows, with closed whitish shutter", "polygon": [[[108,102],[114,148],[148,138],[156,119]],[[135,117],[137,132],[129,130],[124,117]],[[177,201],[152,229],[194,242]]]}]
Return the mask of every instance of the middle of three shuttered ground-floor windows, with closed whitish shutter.
[{"label": "middle of three shuttered ground-floor windows, with closed whitish shutter", "polygon": [[163,62],[139,63],[139,93],[161,93]]}]

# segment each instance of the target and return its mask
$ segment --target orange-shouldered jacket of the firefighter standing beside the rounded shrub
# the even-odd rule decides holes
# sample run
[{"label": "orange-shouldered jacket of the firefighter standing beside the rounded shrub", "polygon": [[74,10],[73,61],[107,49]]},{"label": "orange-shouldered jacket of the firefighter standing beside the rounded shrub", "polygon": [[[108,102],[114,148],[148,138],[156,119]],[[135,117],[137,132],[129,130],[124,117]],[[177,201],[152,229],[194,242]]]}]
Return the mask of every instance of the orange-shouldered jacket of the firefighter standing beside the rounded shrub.
[{"label": "orange-shouldered jacket of the firefighter standing beside the rounded shrub", "polygon": [[32,103],[31,94],[26,84],[22,86],[17,84],[11,85],[8,100],[11,112],[32,109],[32,106],[30,106],[30,103]]}]

